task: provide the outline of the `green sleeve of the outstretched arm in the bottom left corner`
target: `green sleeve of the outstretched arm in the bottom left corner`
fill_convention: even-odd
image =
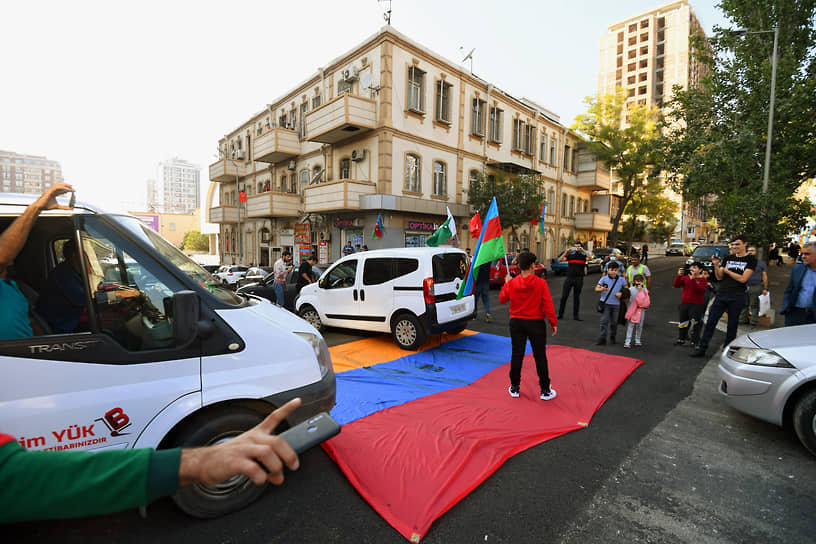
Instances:
[[[0,446],[0,523],[107,514],[178,486],[181,450],[27,451]]]

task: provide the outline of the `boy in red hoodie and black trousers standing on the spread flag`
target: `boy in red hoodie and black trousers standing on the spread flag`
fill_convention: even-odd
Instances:
[[[523,251],[518,255],[521,274],[515,278],[508,275],[499,293],[499,302],[510,302],[510,396],[518,398],[521,385],[521,365],[527,340],[533,348],[533,358],[541,387],[541,400],[555,398],[555,389],[550,387],[550,373],[547,368],[547,324],[550,322],[552,335],[558,331],[558,320],[547,282],[535,275],[535,255]]]

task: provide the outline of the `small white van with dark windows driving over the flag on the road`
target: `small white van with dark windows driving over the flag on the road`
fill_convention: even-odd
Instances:
[[[347,255],[303,287],[298,314],[324,325],[390,332],[414,350],[428,334],[462,332],[474,317],[473,295],[456,299],[467,255],[452,247],[395,248]]]

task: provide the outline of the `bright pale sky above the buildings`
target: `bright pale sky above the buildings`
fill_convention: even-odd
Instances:
[[[397,31],[571,124],[607,26],[663,2],[394,0]],[[728,26],[692,2],[706,29]],[[62,164],[78,198],[143,205],[159,161],[202,167],[218,139],[384,25],[377,0],[3,2],[0,149]],[[469,64],[469,63],[468,63]]]

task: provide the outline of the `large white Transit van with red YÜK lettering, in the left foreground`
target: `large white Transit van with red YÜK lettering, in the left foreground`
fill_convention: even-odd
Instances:
[[[35,198],[0,197],[0,231]],[[69,240],[79,271],[55,285]],[[311,325],[235,294],[135,217],[88,205],[44,212],[11,272],[37,325],[31,338],[0,341],[0,429],[30,450],[213,444],[294,397],[303,406],[290,425],[334,406],[328,348]],[[52,298],[72,290],[80,303]],[[48,315],[55,304],[59,320]],[[215,517],[262,491],[236,477],[182,488],[175,501]]]

